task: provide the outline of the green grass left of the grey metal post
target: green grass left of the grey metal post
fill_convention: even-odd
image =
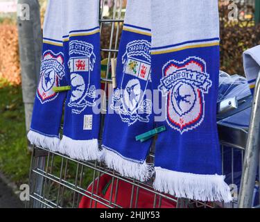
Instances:
[[[0,171],[17,185],[26,183],[30,158],[21,86],[0,80]]]

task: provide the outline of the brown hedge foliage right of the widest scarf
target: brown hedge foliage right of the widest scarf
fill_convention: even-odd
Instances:
[[[232,3],[232,1],[229,1]],[[243,51],[260,44],[260,24],[254,25],[254,8],[237,4],[239,17],[230,21],[230,10],[224,4],[220,6],[220,69],[228,74],[244,74]],[[244,16],[241,16],[244,15]]]

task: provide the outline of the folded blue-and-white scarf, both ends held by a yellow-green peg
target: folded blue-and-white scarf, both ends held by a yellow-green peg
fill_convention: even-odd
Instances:
[[[100,89],[99,53],[98,1],[49,1],[41,77],[28,134],[33,144],[75,159],[96,160],[100,114],[94,108],[96,89]]]

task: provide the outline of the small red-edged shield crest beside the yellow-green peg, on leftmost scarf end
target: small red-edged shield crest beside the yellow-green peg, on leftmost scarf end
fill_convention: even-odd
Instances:
[[[53,87],[60,86],[60,80],[64,75],[63,53],[55,54],[51,50],[45,51],[42,55],[40,82],[37,87],[37,98],[42,104],[57,98],[58,93],[53,91]]]

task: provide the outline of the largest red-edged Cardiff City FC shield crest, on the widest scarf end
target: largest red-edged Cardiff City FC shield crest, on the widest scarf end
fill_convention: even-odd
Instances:
[[[200,126],[205,116],[204,95],[212,86],[205,60],[171,60],[164,65],[162,74],[159,90],[167,99],[168,125],[181,134]]]

